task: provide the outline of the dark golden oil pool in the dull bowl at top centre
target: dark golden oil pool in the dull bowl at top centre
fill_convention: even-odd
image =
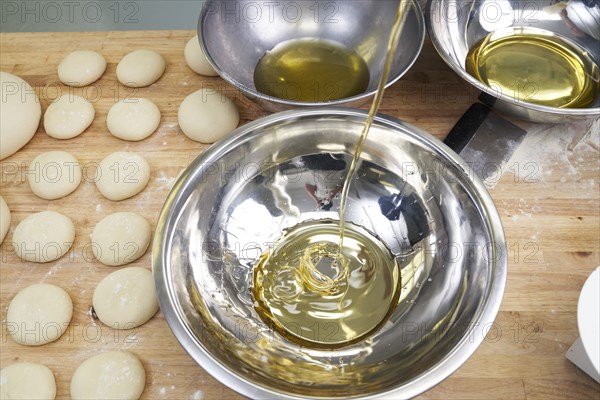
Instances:
[[[256,90],[291,101],[323,102],[364,93],[367,63],[353,50],[319,39],[296,39],[275,46],[254,70]]]

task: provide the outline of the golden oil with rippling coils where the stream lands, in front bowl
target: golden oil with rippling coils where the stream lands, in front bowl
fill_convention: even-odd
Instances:
[[[254,269],[253,297],[263,321],[291,341],[333,349],[386,321],[400,295],[400,269],[370,232],[347,224],[338,251],[334,220],[288,229]]]

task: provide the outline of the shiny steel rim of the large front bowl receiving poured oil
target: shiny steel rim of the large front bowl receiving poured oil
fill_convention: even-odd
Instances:
[[[223,149],[228,148],[235,142],[243,139],[245,135],[256,131],[261,127],[265,127],[280,121],[289,121],[295,118],[309,116],[366,118],[366,114],[367,113],[363,110],[349,108],[305,108],[300,110],[280,112],[250,122],[236,129],[231,134],[213,144],[202,154],[200,154],[175,182],[173,189],[169,193],[165,205],[160,212],[153,240],[152,268],[160,307],[165,319],[177,340],[199,365],[201,365],[209,374],[211,374],[221,383],[244,396],[248,396],[250,398],[264,398],[265,396],[273,396],[289,400],[305,398],[302,396],[279,393],[259,386],[223,366],[210,353],[208,353],[208,351],[206,351],[206,349],[202,346],[202,342],[191,334],[191,332],[185,326],[185,323],[183,323],[180,315],[178,315],[175,304],[173,303],[173,293],[168,285],[166,259],[169,254],[168,228],[172,223],[173,217],[177,215],[177,206],[181,207],[182,204],[182,197],[180,196],[181,187],[185,186],[188,177],[195,170],[197,170],[198,166],[217,160]],[[447,157],[460,169],[464,170],[465,173],[467,173],[469,170],[468,165],[455,152],[453,152],[441,141],[420,130],[419,128],[384,115],[378,115],[376,117],[376,123],[381,123],[392,129],[395,128],[397,130],[406,132],[417,140],[427,144],[439,154]],[[483,210],[481,210],[482,215],[487,219],[489,224],[490,238],[493,240],[493,243],[495,243],[497,246],[496,248],[498,249],[498,259],[496,263],[497,268],[494,268],[493,276],[491,276],[491,282],[493,282],[493,284],[487,292],[487,298],[479,305],[479,319],[465,331],[464,336],[456,344],[454,349],[449,352],[440,363],[429,368],[411,382],[388,390],[387,392],[376,393],[368,396],[361,396],[358,394],[357,396],[361,396],[361,398],[365,399],[398,399],[399,396],[402,398],[410,398],[423,393],[456,371],[475,352],[477,347],[481,344],[481,342],[483,342],[487,331],[489,331],[491,328],[499,311],[506,284],[506,240],[504,237],[500,216],[491,196],[485,189],[485,186],[476,177],[472,179],[472,184],[475,188],[475,194],[478,196],[483,207]]]

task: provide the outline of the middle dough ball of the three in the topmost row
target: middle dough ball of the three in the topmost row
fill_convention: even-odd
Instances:
[[[152,50],[135,50],[117,65],[117,79],[125,86],[150,86],[165,72],[165,60]]]

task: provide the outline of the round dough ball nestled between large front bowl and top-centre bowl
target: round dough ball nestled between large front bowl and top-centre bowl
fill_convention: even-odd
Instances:
[[[212,89],[200,89],[179,106],[179,126],[192,140],[213,143],[233,131],[240,114],[227,96]]]

